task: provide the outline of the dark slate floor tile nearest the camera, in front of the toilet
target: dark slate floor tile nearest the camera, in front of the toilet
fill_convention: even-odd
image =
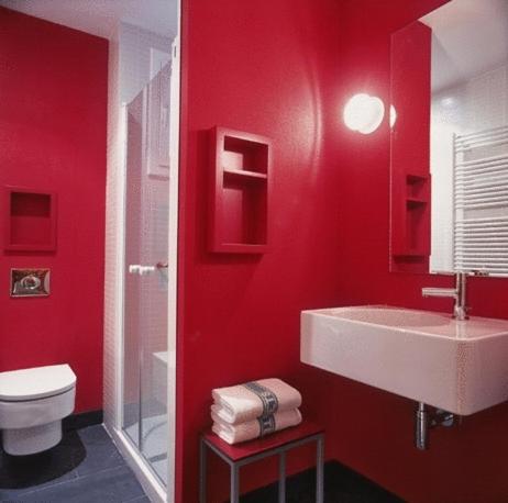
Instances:
[[[117,467],[23,495],[23,503],[121,503],[143,496],[132,471]],[[14,500],[15,501],[15,500]]]

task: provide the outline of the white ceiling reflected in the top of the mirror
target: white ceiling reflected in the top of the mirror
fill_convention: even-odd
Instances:
[[[508,62],[508,0],[453,0],[420,20],[432,29],[432,90]]]

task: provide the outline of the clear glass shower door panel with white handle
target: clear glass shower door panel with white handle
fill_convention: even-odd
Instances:
[[[123,429],[167,484],[169,80],[126,105]]]

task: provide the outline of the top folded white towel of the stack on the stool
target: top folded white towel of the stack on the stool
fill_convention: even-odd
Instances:
[[[245,423],[275,412],[298,409],[301,394],[280,379],[259,381],[212,390],[214,413],[230,424]],[[219,405],[219,407],[216,407]]]

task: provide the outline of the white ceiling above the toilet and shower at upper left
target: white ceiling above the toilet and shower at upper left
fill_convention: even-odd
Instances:
[[[0,5],[104,38],[119,22],[163,36],[177,33],[177,0],[0,0]]]

